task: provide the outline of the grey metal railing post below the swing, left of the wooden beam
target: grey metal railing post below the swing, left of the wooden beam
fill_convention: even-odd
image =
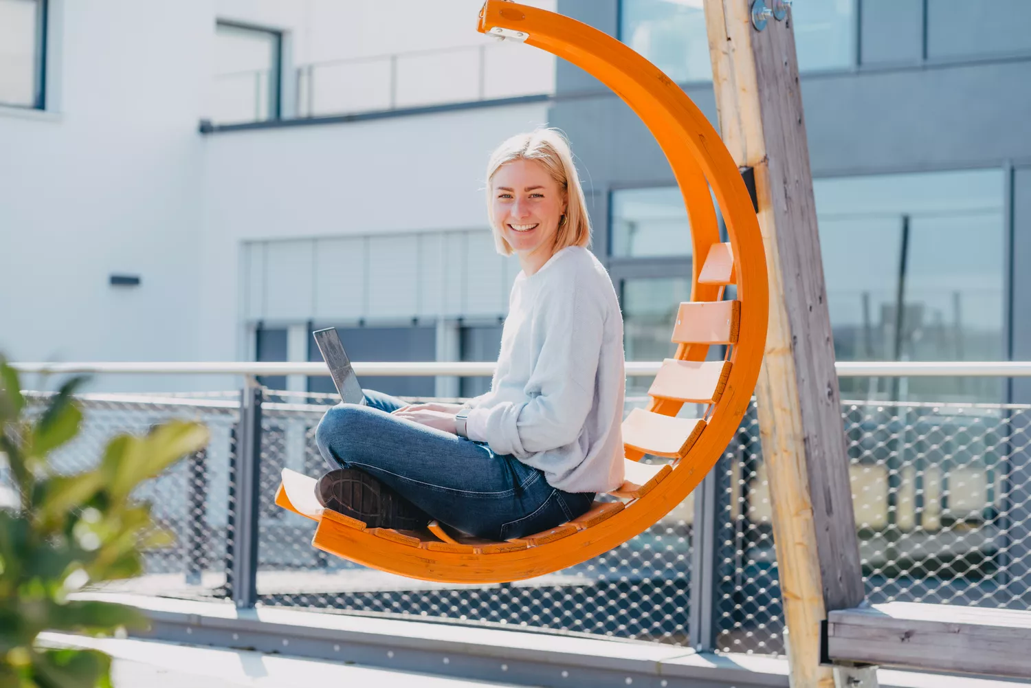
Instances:
[[[691,529],[691,614],[688,633],[691,647],[697,652],[712,652],[713,607],[716,596],[716,522],[718,471],[723,461],[702,480],[695,490],[695,523]]]

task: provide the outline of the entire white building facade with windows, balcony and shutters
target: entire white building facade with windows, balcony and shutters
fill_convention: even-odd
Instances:
[[[546,125],[555,66],[479,5],[0,0],[0,351],[309,360],[332,325],[356,360],[492,359],[519,268],[484,170]]]

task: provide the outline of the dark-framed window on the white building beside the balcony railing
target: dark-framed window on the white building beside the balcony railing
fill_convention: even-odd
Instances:
[[[211,119],[219,124],[279,119],[282,34],[215,25]]]

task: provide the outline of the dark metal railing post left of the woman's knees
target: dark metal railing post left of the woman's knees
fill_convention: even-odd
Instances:
[[[230,595],[237,608],[258,601],[258,471],[261,467],[262,388],[247,385],[240,397],[234,470],[230,474],[233,560]]]

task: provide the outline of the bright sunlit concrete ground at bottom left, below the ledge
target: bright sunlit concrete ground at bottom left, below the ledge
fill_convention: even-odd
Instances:
[[[114,659],[115,688],[296,688],[296,686],[375,686],[376,688],[472,688],[510,686],[390,671],[356,664],[300,659],[246,650],[197,648],[173,643],[91,638],[43,633],[48,645],[95,648]]]

